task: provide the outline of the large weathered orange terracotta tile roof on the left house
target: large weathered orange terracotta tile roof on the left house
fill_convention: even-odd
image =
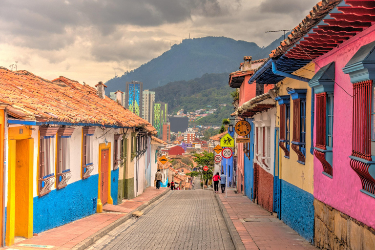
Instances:
[[[96,88],[62,76],[49,81],[25,70],[0,67],[0,102],[10,104],[7,112],[21,120],[143,127],[156,133],[146,120],[109,97],[97,96]]]

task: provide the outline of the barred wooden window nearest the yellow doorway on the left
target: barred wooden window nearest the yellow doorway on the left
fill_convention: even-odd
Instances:
[[[56,181],[56,133],[58,129],[59,127],[39,128],[39,197],[49,193]]]

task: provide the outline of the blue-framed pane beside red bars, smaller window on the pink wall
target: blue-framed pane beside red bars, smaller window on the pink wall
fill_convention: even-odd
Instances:
[[[333,93],[327,94],[326,108],[326,147],[331,152],[326,153],[326,161],[332,166],[332,148],[333,148]]]

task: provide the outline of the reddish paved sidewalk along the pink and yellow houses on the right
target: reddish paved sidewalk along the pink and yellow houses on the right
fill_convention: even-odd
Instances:
[[[229,226],[228,224],[227,226],[229,232],[232,228],[230,234],[236,249],[316,250],[310,242],[302,238],[296,231],[273,217],[270,212],[254,204],[246,196],[237,194],[230,189],[227,193],[227,199],[225,194],[222,193],[215,194],[215,196],[221,209],[225,209],[223,212],[224,219],[229,217],[232,222],[232,224],[229,222]],[[230,224],[232,227],[230,227]]]

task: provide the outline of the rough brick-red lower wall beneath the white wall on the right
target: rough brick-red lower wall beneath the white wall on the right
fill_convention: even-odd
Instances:
[[[269,212],[273,208],[273,176],[256,164],[258,204]]]

